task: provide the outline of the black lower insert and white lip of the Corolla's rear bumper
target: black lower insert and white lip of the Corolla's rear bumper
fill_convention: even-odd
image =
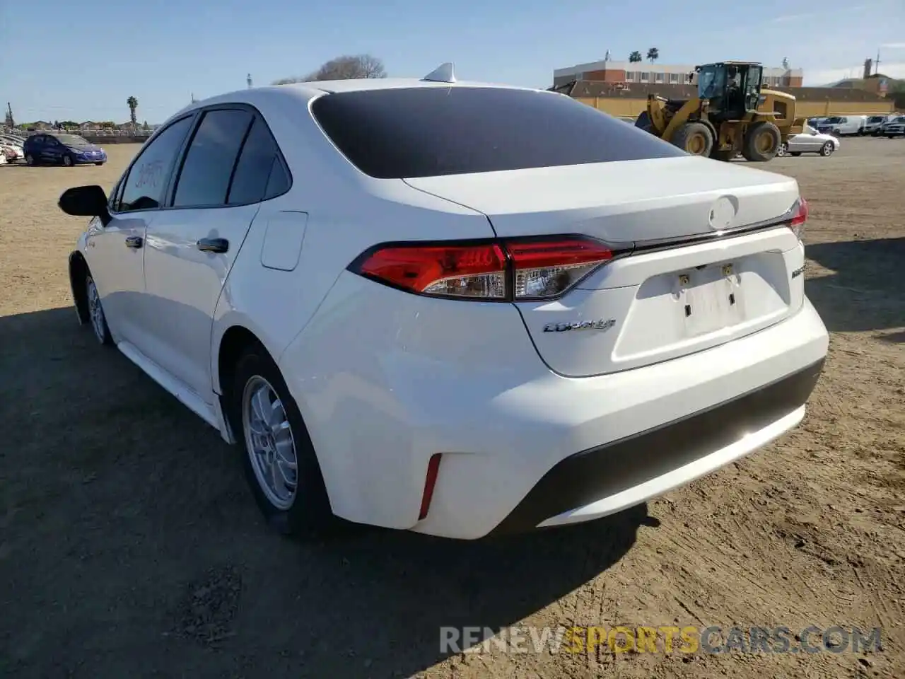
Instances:
[[[821,359],[719,406],[571,455],[492,532],[599,518],[729,464],[798,424],[823,367]]]

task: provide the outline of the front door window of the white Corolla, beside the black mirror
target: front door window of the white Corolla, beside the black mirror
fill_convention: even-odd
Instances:
[[[153,210],[161,206],[167,190],[167,177],[191,124],[192,116],[176,120],[141,149],[129,169],[129,176],[123,179],[119,211]]]

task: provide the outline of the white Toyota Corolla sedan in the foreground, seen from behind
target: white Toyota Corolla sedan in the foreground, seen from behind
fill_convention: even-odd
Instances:
[[[198,101],[60,206],[79,320],[291,533],[618,512],[796,426],[827,351],[794,179],[450,64]]]

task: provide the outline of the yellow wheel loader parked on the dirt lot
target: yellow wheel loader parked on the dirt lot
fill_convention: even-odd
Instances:
[[[761,89],[759,63],[707,63],[695,73],[697,97],[668,100],[651,94],[635,127],[695,156],[731,160],[740,153],[759,162],[774,158],[791,134],[804,129],[805,119],[795,119],[795,97]]]

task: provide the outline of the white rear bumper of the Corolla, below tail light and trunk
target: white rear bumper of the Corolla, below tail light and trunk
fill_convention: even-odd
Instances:
[[[805,299],[718,347],[566,378],[538,359],[512,305],[405,295],[348,273],[278,363],[338,516],[472,540],[617,512],[756,450],[804,415],[827,344]]]

